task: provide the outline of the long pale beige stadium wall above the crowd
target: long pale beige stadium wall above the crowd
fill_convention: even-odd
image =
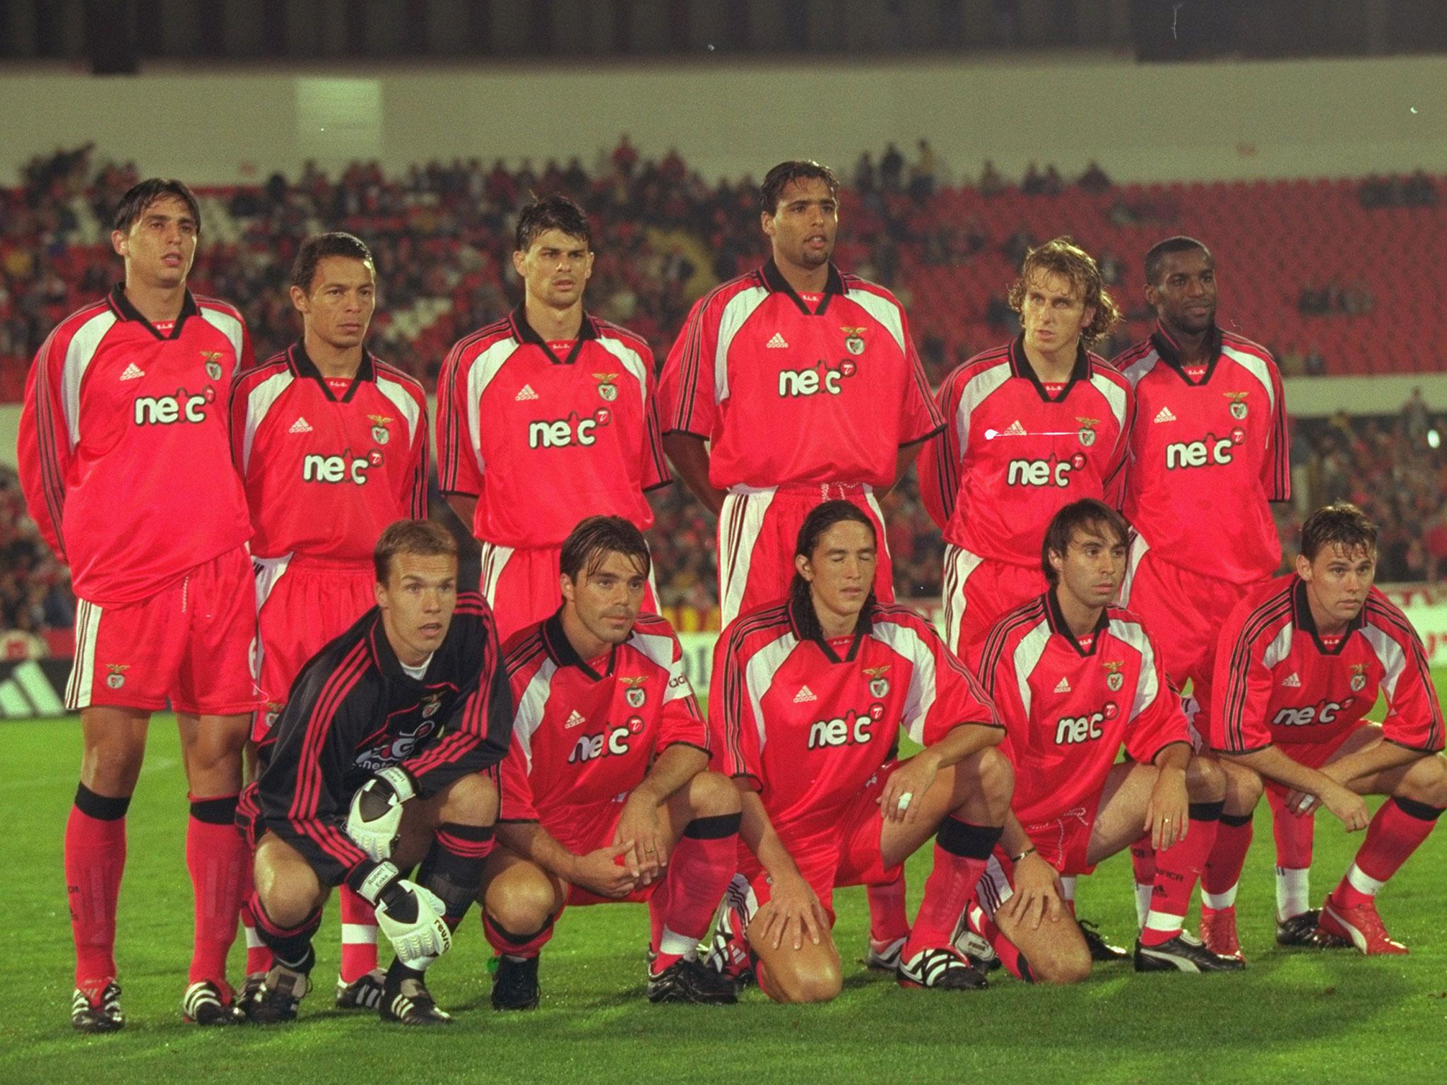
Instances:
[[[391,169],[478,156],[593,155],[629,133],[705,176],[755,176],[809,155],[851,168],[888,140],[933,145],[971,176],[985,158],[1120,181],[1351,176],[1447,169],[1447,58],[1134,64],[1117,56],[696,62],[647,67],[262,69],[152,67],[94,78],[0,74],[0,175],[38,150],[96,142],[145,174],[258,181],[307,159]],[[945,178],[951,179],[951,178]]]

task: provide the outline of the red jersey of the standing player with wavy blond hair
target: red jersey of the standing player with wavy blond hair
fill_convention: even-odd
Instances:
[[[1039,566],[1062,506],[1097,498],[1119,508],[1133,411],[1130,385],[1085,347],[1053,395],[1023,337],[977,354],[939,388],[945,430],[919,461],[925,508],[948,542]]]

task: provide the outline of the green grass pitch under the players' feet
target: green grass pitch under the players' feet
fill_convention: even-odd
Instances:
[[[1257,817],[1239,911],[1242,975],[1137,977],[1097,971],[1068,990],[1003,978],[972,994],[904,991],[857,963],[868,917],[862,890],[838,894],[845,991],[822,1007],[773,1005],[750,990],[738,1007],[655,1007],[642,997],[641,906],[573,909],[543,958],[543,1008],[495,1014],[486,955],[469,917],[431,974],[454,1010],[446,1033],[385,1029],[330,1008],[337,927],[317,939],[318,990],[302,1020],[272,1030],[182,1024],[191,890],[182,855],[185,781],[174,728],[158,718],[135,803],[120,901],[119,963],[127,1024],[113,1036],[69,1029],[72,952],[61,830],[75,791],[74,720],[6,723],[20,767],[3,806],[6,855],[0,965],[3,1082],[739,1082],[1068,1081],[1331,1082],[1433,1079],[1447,1026],[1447,932],[1440,922],[1447,839],[1434,835],[1382,894],[1409,958],[1286,952],[1272,940],[1270,826]],[[1336,884],[1360,836],[1318,819],[1314,895]],[[910,864],[917,903],[928,851]],[[1134,923],[1130,865],[1117,856],[1081,881],[1081,913],[1117,940]],[[232,974],[240,974],[240,946]],[[997,974],[1000,975],[1000,974]],[[1433,1055],[1437,1052],[1437,1055]]]

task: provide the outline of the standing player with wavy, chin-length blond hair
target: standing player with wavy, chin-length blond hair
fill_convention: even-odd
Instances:
[[[1081,498],[1119,503],[1134,396],[1090,353],[1120,320],[1095,260],[1068,237],[1032,249],[1010,286],[1020,336],[939,388],[945,430],[919,467],[945,532],[945,639],[961,657],[1045,590],[1040,537]]]

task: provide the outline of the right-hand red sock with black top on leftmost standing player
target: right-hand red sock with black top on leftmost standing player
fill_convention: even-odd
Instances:
[[[195,940],[188,982],[210,979],[226,990],[226,955],[236,940],[242,891],[252,852],[236,827],[239,796],[192,799],[185,865],[195,895]]]

